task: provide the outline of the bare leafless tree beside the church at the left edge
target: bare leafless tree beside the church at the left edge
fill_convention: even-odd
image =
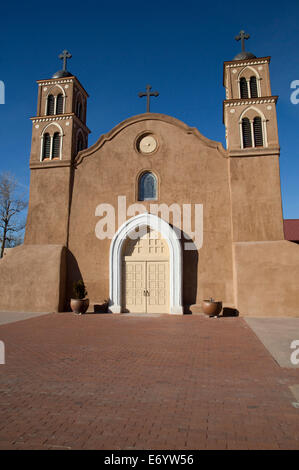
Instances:
[[[28,203],[18,194],[18,182],[10,173],[0,175],[0,258],[5,246],[15,246],[20,242],[18,233],[24,229],[25,222],[20,220],[20,213]]]

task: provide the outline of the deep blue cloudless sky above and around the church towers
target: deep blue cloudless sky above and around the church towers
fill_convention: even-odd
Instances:
[[[90,95],[89,145],[120,121],[145,112],[146,100],[137,95],[147,83],[160,93],[151,111],[175,116],[225,145],[223,61],[239,52],[234,37],[245,29],[251,34],[246,49],[272,57],[284,218],[299,218],[299,104],[290,101],[290,83],[299,80],[299,2],[248,5],[240,0],[2,4],[0,80],[6,104],[0,105],[0,171],[11,171],[29,188],[35,81],[61,68],[57,56],[63,49],[72,53],[68,68]]]

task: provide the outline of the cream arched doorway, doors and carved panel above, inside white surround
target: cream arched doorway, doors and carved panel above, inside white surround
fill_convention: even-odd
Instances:
[[[169,312],[169,248],[159,232],[142,227],[122,252],[122,311]]]

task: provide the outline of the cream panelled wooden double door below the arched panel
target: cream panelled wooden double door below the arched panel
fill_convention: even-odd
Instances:
[[[169,312],[168,261],[124,261],[124,311]]]

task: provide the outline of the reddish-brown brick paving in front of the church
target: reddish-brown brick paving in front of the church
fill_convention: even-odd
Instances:
[[[49,314],[0,340],[1,449],[299,449],[299,371],[242,318]]]

